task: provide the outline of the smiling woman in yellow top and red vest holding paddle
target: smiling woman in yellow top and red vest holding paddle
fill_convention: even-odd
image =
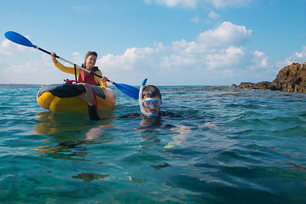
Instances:
[[[77,76],[77,80],[79,82],[85,82],[89,83],[91,85],[102,85],[103,87],[107,87],[106,80],[107,77],[103,76],[103,78],[99,78],[91,73],[88,73],[78,67],[75,68],[74,73],[74,67],[73,66],[64,66],[62,65],[57,59],[55,58],[56,53],[51,52],[51,59],[53,60],[54,65],[61,71],[66,73],[75,74]],[[97,66],[94,66],[96,61],[97,53],[95,51],[88,51],[85,55],[84,63],[81,65],[81,67],[86,68],[100,76],[102,76],[102,72],[100,69],[98,69]]]

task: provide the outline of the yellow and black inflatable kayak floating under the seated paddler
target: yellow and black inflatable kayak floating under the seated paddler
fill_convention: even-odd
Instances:
[[[97,110],[109,110],[116,103],[116,94],[110,88],[90,85],[96,94]],[[87,103],[78,95],[84,94],[82,85],[49,84],[42,86],[36,95],[40,107],[54,113],[84,113],[88,112]]]

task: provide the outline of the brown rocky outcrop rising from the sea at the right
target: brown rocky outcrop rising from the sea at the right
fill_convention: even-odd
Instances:
[[[234,88],[281,90],[288,92],[306,92],[306,62],[292,63],[278,71],[272,81],[258,83],[241,82],[239,85],[232,84]]]

